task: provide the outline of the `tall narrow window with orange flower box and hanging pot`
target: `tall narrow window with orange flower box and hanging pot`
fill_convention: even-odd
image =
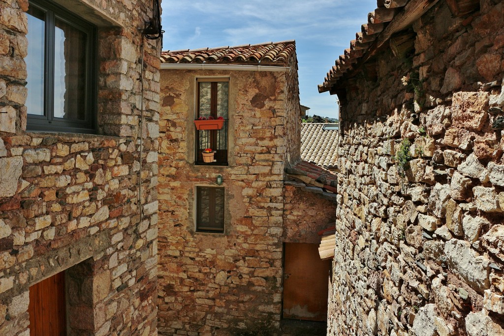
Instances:
[[[196,126],[196,163],[227,165],[227,138],[229,121],[229,79],[198,79],[196,119],[207,119]],[[209,120],[210,119],[210,120]],[[219,120],[213,122],[212,120]],[[210,148],[213,159],[203,159],[202,152]]]

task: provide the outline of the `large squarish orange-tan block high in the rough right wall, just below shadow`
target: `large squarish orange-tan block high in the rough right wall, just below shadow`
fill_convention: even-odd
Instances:
[[[454,127],[481,130],[488,118],[488,92],[456,92],[452,100]]]

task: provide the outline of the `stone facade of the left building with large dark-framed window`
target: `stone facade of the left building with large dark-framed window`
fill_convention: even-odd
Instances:
[[[96,36],[86,63],[94,134],[27,131],[32,4],[0,1],[0,334],[30,334],[29,288],[62,271],[67,334],[157,334],[160,41],[140,32],[152,1],[37,3],[64,6]]]

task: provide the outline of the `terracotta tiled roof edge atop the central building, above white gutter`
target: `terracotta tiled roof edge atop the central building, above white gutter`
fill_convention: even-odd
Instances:
[[[295,52],[296,42],[266,42],[234,47],[168,50],[161,52],[161,63],[285,64]]]

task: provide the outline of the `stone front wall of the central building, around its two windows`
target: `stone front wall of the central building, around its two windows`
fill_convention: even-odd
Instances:
[[[196,78],[204,76],[229,78],[229,166],[194,164]],[[160,333],[278,329],[286,124],[299,118],[299,101],[286,101],[286,89],[296,83],[297,71],[162,71]],[[196,186],[215,185],[218,174],[225,232],[195,232]]]

